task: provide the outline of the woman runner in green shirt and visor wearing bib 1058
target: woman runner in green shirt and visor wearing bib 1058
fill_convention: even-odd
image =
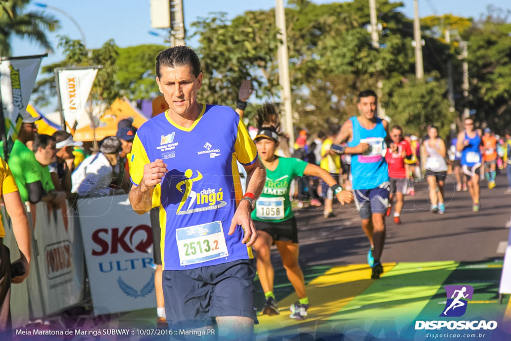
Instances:
[[[275,155],[280,120],[272,104],[265,104],[258,110],[258,127],[259,132],[254,142],[266,167],[266,184],[252,212],[252,220],[259,235],[253,248],[257,252],[257,271],[266,297],[263,314],[279,314],[273,294],[274,273],[270,262],[270,248],[275,244],[281,254],[287,277],[299,298],[291,305],[290,317],[303,320],[307,316],[309,299],[305,292],[304,274],[298,264],[298,231],[289,199],[291,180],[296,176],[318,176],[332,188],[341,204],[351,202],[353,195],[343,190],[337,181],[319,166],[298,158]]]

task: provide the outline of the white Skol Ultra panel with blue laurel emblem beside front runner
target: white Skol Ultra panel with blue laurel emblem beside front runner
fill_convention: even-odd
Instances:
[[[156,308],[149,213],[125,194],[80,199],[78,215],[95,314]]]

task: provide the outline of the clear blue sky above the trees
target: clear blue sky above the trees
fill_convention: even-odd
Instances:
[[[396,1],[396,0],[391,0]],[[286,0],[285,0],[286,2]],[[315,3],[332,3],[329,0],[314,0]],[[377,0],[378,2],[378,0]],[[413,0],[401,0],[402,11],[413,17]],[[151,29],[149,0],[33,0],[28,6],[31,10],[43,10],[34,5],[43,3],[57,7],[71,15],[81,26],[87,48],[99,48],[106,40],[114,39],[120,47],[138,44],[164,44],[164,40],[148,33]],[[510,0],[419,0],[420,16],[442,15],[451,13],[459,16],[479,18],[486,12],[488,5],[506,10],[511,9]],[[211,12],[227,12],[233,18],[248,10],[270,9],[275,6],[274,0],[238,1],[238,0],[183,0],[184,20],[187,29],[198,17],[207,16]],[[57,49],[58,35],[67,35],[80,39],[79,30],[73,22],[59,12],[44,9],[60,20],[61,28],[49,33],[49,39],[55,52],[42,60],[42,65],[62,60],[62,51]],[[188,30],[190,33],[191,31]],[[189,42],[193,47],[193,41]],[[35,55],[44,53],[44,49],[21,39],[12,41],[13,55]]]

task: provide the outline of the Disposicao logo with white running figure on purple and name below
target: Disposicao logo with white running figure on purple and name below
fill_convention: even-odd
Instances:
[[[447,301],[439,317],[459,317],[467,312],[468,300],[472,300],[474,288],[470,285],[446,285]],[[449,330],[493,330],[497,328],[496,321],[415,321],[415,330],[441,329]]]

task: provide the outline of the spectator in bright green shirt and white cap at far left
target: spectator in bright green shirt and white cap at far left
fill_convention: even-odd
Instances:
[[[26,144],[29,141],[34,141],[37,132],[34,122],[39,119],[40,117],[30,117],[23,120],[8,158],[8,165],[18,186],[21,200],[32,203],[36,203],[41,199],[39,191],[41,175],[35,155]],[[4,160],[6,159],[3,142],[0,142],[0,156]]]

